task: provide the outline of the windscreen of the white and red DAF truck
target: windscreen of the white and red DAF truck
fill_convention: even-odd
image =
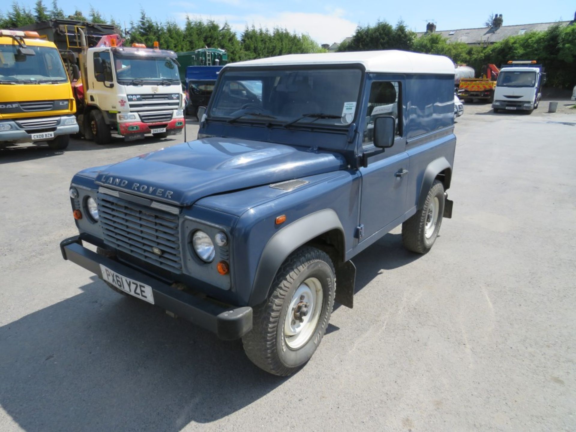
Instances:
[[[176,63],[169,57],[154,57],[134,55],[123,56],[114,53],[116,79],[120,84],[132,81],[146,81],[148,84],[179,84],[180,75]]]

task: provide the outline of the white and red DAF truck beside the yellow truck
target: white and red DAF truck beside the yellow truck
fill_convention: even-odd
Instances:
[[[112,134],[126,141],[145,134],[166,138],[184,128],[184,93],[174,51],[122,46],[107,35],[88,48],[82,29],[81,81],[74,86],[80,132],[97,144]]]

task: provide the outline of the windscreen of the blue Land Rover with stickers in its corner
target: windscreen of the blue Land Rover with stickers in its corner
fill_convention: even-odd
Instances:
[[[209,118],[298,126],[354,120],[359,69],[224,70]]]

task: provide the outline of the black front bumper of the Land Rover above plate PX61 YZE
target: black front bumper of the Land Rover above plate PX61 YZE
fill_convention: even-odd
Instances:
[[[248,306],[224,308],[209,300],[179,291],[138,270],[90,251],[82,245],[80,236],[66,238],[60,242],[60,249],[65,260],[86,268],[99,278],[102,278],[100,264],[103,264],[120,275],[150,285],[154,294],[154,305],[214,332],[220,339],[239,339],[252,329],[252,308]]]

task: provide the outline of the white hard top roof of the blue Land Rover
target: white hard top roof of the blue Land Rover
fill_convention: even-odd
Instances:
[[[363,65],[367,72],[454,75],[454,63],[448,57],[397,50],[289,54],[228,63],[224,67],[351,65],[354,63]]]

